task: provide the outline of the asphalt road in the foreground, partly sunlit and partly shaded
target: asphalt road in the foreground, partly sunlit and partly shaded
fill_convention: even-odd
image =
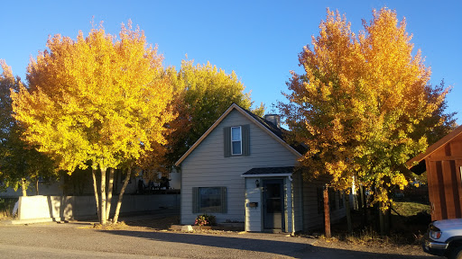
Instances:
[[[192,234],[143,228],[97,230],[87,223],[0,225],[0,258],[438,258],[312,246],[279,234]]]

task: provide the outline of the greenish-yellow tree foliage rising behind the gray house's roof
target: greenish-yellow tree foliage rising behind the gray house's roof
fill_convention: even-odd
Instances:
[[[180,71],[169,67],[165,71],[176,90],[175,111],[178,118],[171,123],[175,132],[170,136],[170,152],[167,164],[173,165],[204,132],[232,104],[251,109],[250,93],[232,71],[207,64],[193,64],[193,60],[182,60]],[[252,112],[263,116],[263,103]]]

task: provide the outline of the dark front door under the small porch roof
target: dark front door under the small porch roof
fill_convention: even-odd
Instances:
[[[282,179],[263,180],[263,228],[283,228],[283,193]]]

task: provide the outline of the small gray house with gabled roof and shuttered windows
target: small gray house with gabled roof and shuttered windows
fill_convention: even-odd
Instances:
[[[302,151],[283,140],[278,116],[266,119],[232,104],[180,157],[181,224],[207,213],[245,222],[245,231],[322,226],[322,183],[302,181],[294,171]],[[330,201],[335,222],[345,216],[344,197],[330,192]]]

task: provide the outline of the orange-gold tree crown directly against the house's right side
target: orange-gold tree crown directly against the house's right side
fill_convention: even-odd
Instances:
[[[347,189],[357,168],[354,147],[361,139],[362,121],[355,114],[365,109],[355,78],[362,57],[355,55],[358,42],[345,17],[328,11],[319,29],[313,50],[306,46],[299,55],[305,74],[291,72],[292,92],[286,94],[291,103],[280,105],[295,140],[310,147],[300,160],[310,170],[306,176],[329,175],[332,186]]]

